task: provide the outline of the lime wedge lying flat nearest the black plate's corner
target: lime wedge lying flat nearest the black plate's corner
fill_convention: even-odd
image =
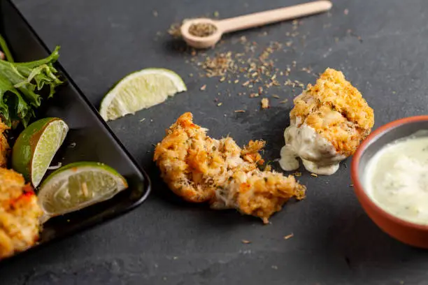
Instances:
[[[108,200],[127,187],[124,177],[110,166],[85,161],[68,164],[49,175],[37,196],[46,220]]]

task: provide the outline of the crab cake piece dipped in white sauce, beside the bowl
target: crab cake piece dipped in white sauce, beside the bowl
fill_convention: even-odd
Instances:
[[[331,175],[354,154],[371,132],[373,109],[340,71],[327,68],[315,85],[294,98],[285,130],[281,167],[296,170],[300,157],[307,170]]]

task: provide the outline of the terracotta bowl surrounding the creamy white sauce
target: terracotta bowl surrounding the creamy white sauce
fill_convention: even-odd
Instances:
[[[381,209],[364,189],[364,170],[369,159],[387,143],[411,136],[416,131],[428,130],[428,115],[399,119],[381,126],[362,142],[352,159],[351,177],[354,190],[369,217],[385,233],[414,247],[428,249],[428,225],[414,224]]]

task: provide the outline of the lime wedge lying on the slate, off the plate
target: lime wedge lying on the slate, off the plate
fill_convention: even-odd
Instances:
[[[117,119],[162,103],[168,96],[186,90],[177,73],[164,68],[146,68],[120,80],[104,96],[99,113],[106,121]]]

